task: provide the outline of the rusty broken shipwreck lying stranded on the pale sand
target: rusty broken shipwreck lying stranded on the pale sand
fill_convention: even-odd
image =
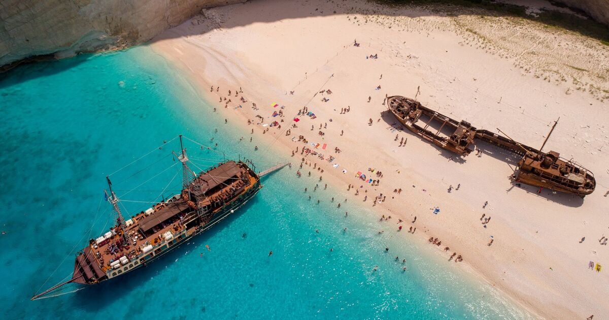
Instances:
[[[541,148],[537,150],[518,143],[512,138],[506,138],[484,129],[477,130],[466,121],[448,118],[448,116],[423,107],[414,99],[390,96],[387,98],[387,106],[407,129],[424,140],[458,155],[470,154],[475,148],[474,139],[486,141],[521,155],[523,158],[519,160],[513,175],[515,182],[576,194],[581,197],[591,194],[596,187],[594,174],[588,169],[572,160],[561,158],[558,152],[542,151],[558,121],[554,123]],[[436,121],[435,125],[438,127],[436,132],[430,130],[432,121]],[[446,127],[448,130],[445,129]],[[443,129],[446,133],[442,132]],[[501,132],[501,130],[499,131]]]

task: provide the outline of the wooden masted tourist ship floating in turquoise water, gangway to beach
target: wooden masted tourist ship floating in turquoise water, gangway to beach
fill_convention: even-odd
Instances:
[[[287,165],[256,174],[250,161],[227,161],[195,174],[189,167],[181,135],[180,146],[181,153],[174,155],[182,164],[181,193],[124,219],[107,177],[105,195],[116,224],[79,252],[71,279],[35,294],[32,300],[63,294],[57,292],[69,283],[93,285],[146,266],[234,213],[262,188],[261,176]]]

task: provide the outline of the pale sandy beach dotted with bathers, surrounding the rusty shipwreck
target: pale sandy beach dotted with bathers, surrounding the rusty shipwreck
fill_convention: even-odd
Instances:
[[[327,143],[322,152],[336,157],[338,169],[314,156],[307,161],[321,164],[324,180],[341,188],[364,185],[350,201],[363,201],[363,190],[368,190],[368,201],[362,205],[373,205],[378,193],[387,195],[375,208],[379,217],[390,214],[393,219],[379,222],[379,228],[396,228],[400,216],[407,231],[417,216],[417,232],[403,231],[404,237],[421,243],[438,237],[442,246],[429,249],[446,260],[452,252],[462,254],[464,268],[471,267],[537,315],[609,318],[608,273],[588,269],[588,261],[609,265],[608,248],[599,244],[601,236],[609,236],[609,199],[603,196],[609,183],[609,111],[602,91],[608,88],[606,47],[519,18],[465,13],[448,17],[437,10],[357,1],[261,0],[208,10],[205,16],[167,30],[151,46],[194,76],[202,93],[231,123],[253,127],[252,144],[261,152],[272,148],[289,156],[290,149],[304,146],[290,140],[298,135]],[[353,46],[354,39],[361,43],[359,48]],[[378,59],[366,59],[375,53]],[[220,91],[210,93],[210,85],[219,85]],[[378,85],[381,90],[375,90]],[[560,116],[546,150],[591,169],[597,190],[585,200],[547,191],[538,195],[533,187],[510,183],[518,159],[505,151],[479,143],[482,157],[471,154],[454,161],[415,135],[397,132],[390,127],[395,119],[383,113],[383,98],[414,98],[418,86],[424,105],[477,127],[500,127],[531,146],[541,146],[549,124]],[[239,87],[245,104],[239,102],[241,94],[234,96]],[[333,94],[319,93],[328,88]],[[219,96],[228,98],[228,90],[233,91],[232,102],[224,108]],[[288,93],[292,90],[293,95]],[[330,101],[322,102],[323,97]],[[253,110],[251,102],[259,110]],[[286,106],[285,122],[262,135],[255,115],[269,123],[277,110],[272,102]],[[239,104],[243,108],[235,109]],[[290,120],[305,105],[318,118],[300,116],[298,128],[286,136]],[[347,106],[351,111],[340,114]],[[372,126],[367,125],[369,118],[374,119]],[[247,119],[254,124],[248,127]],[[327,129],[319,129],[324,123]],[[323,138],[317,134],[320,130]],[[407,138],[406,147],[398,147],[396,134]],[[335,154],[335,147],[342,152]],[[300,157],[293,163],[300,163]],[[303,172],[312,169],[305,166]],[[383,172],[379,187],[354,177],[369,167]],[[312,178],[302,179],[314,185],[319,176],[314,171]],[[446,192],[458,183],[460,190]],[[392,192],[395,188],[404,191],[398,196]],[[482,208],[485,201],[488,206]],[[430,210],[436,206],[439,215]],[[480,221],[483,213],[491,216],[486,229]],[[491,235],[495,241],[487,246]],[[579,243],[583,236],[586,240]],[[445,246],[449,252],[442,251]]]

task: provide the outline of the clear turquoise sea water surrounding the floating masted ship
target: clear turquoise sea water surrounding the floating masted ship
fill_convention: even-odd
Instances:
[[[66,256],[45,288],[71,273],[74,245],[80,249],[107,227],[104,177],[163,140],[183,133],[218,143],[213,152],[187,142],[201,167],[222,153],[256,159],[259,169],[281,160],[254,152],[247,132],[209,112],[172,70],[143,46],[28,65],[0,78],[2,318],[530,318],[454,263],[410,243],[393,222],[350,203],[336,208],[330,199],[343,199],[342,191],[318,190],[309,202],[303,188],[311,190],[314,178],[295,179],[287,168],[265,178],[236,215],[148,268],[30,301]],[[112,176],[125,212],[148,207],[129,201],[178,191],[179,165],[161,172],[174,163],[175,142]],[[406,272],[396,255],[406,258]]]

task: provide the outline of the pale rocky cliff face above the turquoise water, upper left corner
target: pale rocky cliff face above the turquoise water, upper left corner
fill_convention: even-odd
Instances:
[[[246,0],[0,0],[0,66],[150,40],[200,10]]]

